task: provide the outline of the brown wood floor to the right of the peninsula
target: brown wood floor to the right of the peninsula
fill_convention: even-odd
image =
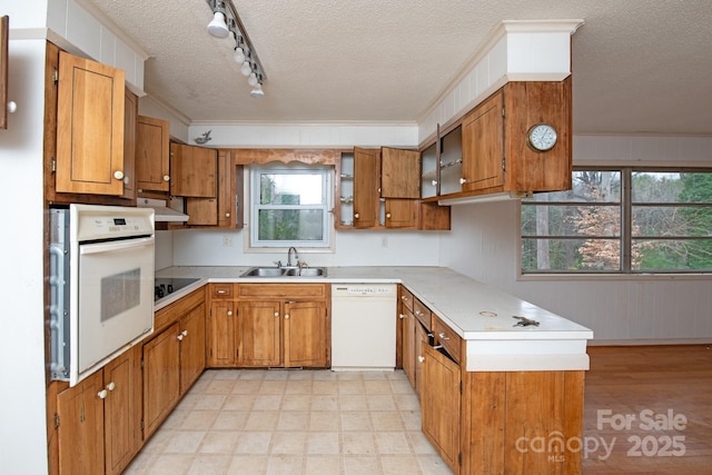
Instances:
[[[712,347],[589,347],[584,474],[712,474]]]

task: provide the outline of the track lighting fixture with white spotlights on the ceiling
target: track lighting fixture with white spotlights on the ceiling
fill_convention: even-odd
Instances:
[[[250,96],[265,97],[263,82],[266,79],[263,65],[257,58],[255,47],[249,40],[245,27],[240,21],[231,0],[206,0],[212,10],[212,20],[208,24],[208,32],[215,38],[228,38],[233,46],[233,59],[240,65],[240,73],[247,78],[251,87]]]

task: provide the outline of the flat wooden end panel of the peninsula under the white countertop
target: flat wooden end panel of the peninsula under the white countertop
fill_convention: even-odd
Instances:
[[[461,473],[581,473],[583,370],[462,375]]]

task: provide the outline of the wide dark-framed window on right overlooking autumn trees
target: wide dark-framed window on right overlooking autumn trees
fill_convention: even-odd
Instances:
[[[522,274],[712,271],[712,170],[578,168],[522,200]]]

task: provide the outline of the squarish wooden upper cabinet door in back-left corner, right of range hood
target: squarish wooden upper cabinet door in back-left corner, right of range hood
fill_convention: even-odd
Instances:
[[[182,197],[217,196],[217,150],[170,145],[170,194]]]

